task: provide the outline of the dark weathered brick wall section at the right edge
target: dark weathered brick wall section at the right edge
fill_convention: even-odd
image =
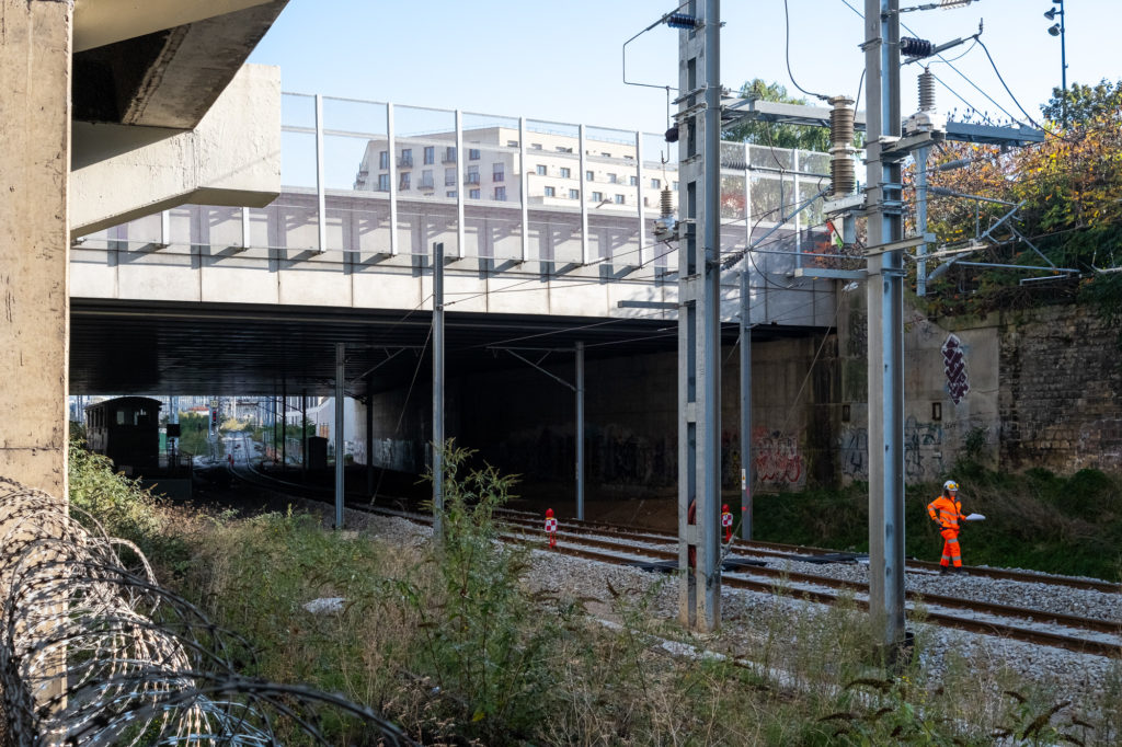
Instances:
[[[1003,320],[1000,460],[1070,474],[1122,472],[1118,330],[1064,306]]]

